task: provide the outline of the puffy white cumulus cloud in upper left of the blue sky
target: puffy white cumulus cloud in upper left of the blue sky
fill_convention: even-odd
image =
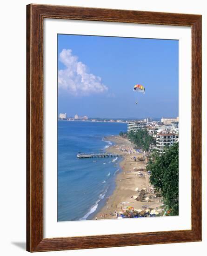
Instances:
[[[107,92],[101,78],[88,72],[87,66],[78,61],[71,49],[63,49],[59,60],[65,69],[58,70],[58,87],[73,95],[90,95]]]

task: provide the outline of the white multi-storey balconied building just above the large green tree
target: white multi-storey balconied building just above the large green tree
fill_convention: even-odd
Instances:
[[[175,133],[158,133],[156,135],[156,149],[159,151],[160,155],[164,152],[165,147],[172,146],[174,143],[178,142],[179,135]]]

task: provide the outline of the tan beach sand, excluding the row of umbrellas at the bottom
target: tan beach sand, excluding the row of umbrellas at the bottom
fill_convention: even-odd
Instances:
[[[154,190],[151,189],[149,175],[145,169],[146,162],[134,161],[133,159],[133,157],[143,158],[143,154],[134,151],[127,138],[110,136],[105,139],[115,143],[115,145],[107,148],[107,152],[126,153],[128,155],[125,155],[120,162],[121,172],[116,177],[116,187],[113,194],[107,197],[106,205],[94,216],[94,219],[117,218],[117,214],[123,213],[127,206],[133,207],[134,210],[160,209],[161,198],[156,197]],[[137,201],[135,198],[141,190],[145,190],[144,199]]]

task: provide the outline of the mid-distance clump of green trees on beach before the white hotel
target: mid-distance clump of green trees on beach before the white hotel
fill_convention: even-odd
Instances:
[[[144,151],[149,151],[150,146],[155,144],[154,138],[148,134],[147,129],[140,129],[135,133],[131,131],[127,137],[136,148],[141,148]]]

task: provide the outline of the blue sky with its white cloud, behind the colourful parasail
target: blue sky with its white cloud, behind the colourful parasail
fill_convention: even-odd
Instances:
[[[58,114],[178,116],[178,44],[178,40],[59,34]],[[135,84],[143,85],[146,93],[134,92]]]

